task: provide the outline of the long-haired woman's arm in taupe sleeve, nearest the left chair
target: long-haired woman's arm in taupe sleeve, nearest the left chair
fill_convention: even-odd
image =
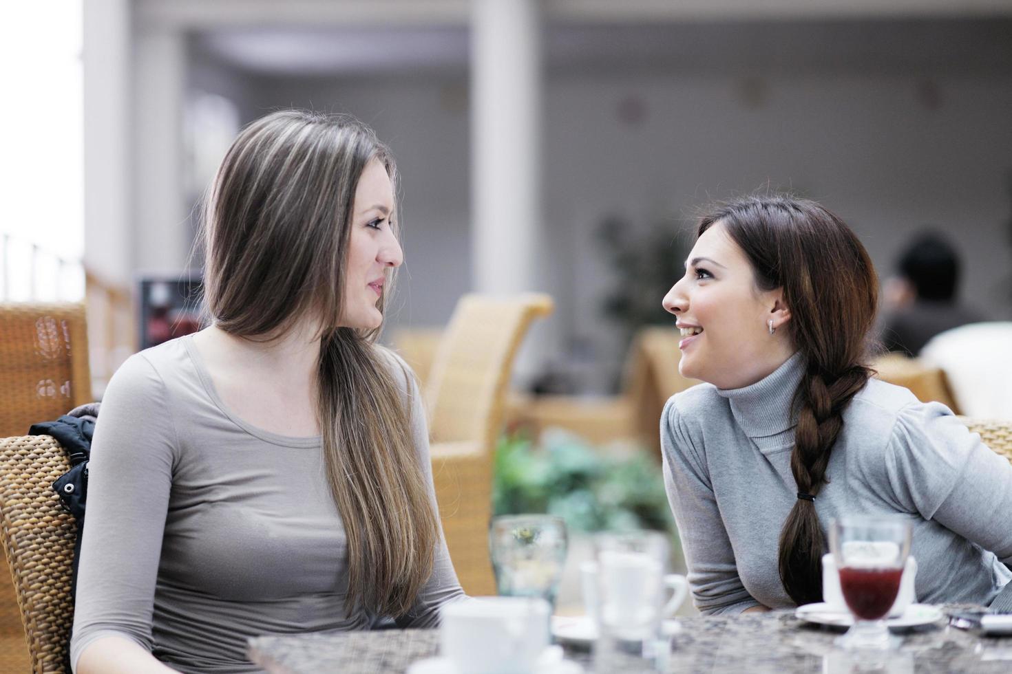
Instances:
[[[143,355],[130,358],[109,382],[91,446],[71,641],[75,671],[164,671],[150,652],[178,447],[171,414],[155,368]]]

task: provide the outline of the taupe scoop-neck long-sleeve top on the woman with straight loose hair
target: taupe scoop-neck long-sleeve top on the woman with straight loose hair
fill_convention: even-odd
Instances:
[[[435,507],[421,396],[395,359]],[[256,671],[249,637],[362,630],[374,618],[345,610],[346,539],[320,439],[233,414],[190,336],[133,356],[109,382],[88,492],[75,668],[88,644],[117,635],[184,672]],[[440,543],[431,578],[398,622],[433,625],[438,607],[462,596]]]

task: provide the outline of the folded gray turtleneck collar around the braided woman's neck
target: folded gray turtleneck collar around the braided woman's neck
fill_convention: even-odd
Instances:
[[[766,438],[791,428],[796,411],[791,408],[794,390],[805,374],[802,352],[755,384],[744,388],[716,389],[731,404],[735,421],[749,438]]]

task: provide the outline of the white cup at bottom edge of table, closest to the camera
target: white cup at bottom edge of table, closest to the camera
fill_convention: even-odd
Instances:
[[[529,674],[549,647],[552,608],[540,598],[475,597],[443,605],[439,648],[458,672]]]

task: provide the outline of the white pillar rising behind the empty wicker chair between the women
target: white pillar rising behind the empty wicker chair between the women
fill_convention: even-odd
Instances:
[[[540,9],[540,0],[472,3],[472,279],[478,292],[544,288]],[[543,339],[528,340],[518,377],[529,379],[547,351]]]

